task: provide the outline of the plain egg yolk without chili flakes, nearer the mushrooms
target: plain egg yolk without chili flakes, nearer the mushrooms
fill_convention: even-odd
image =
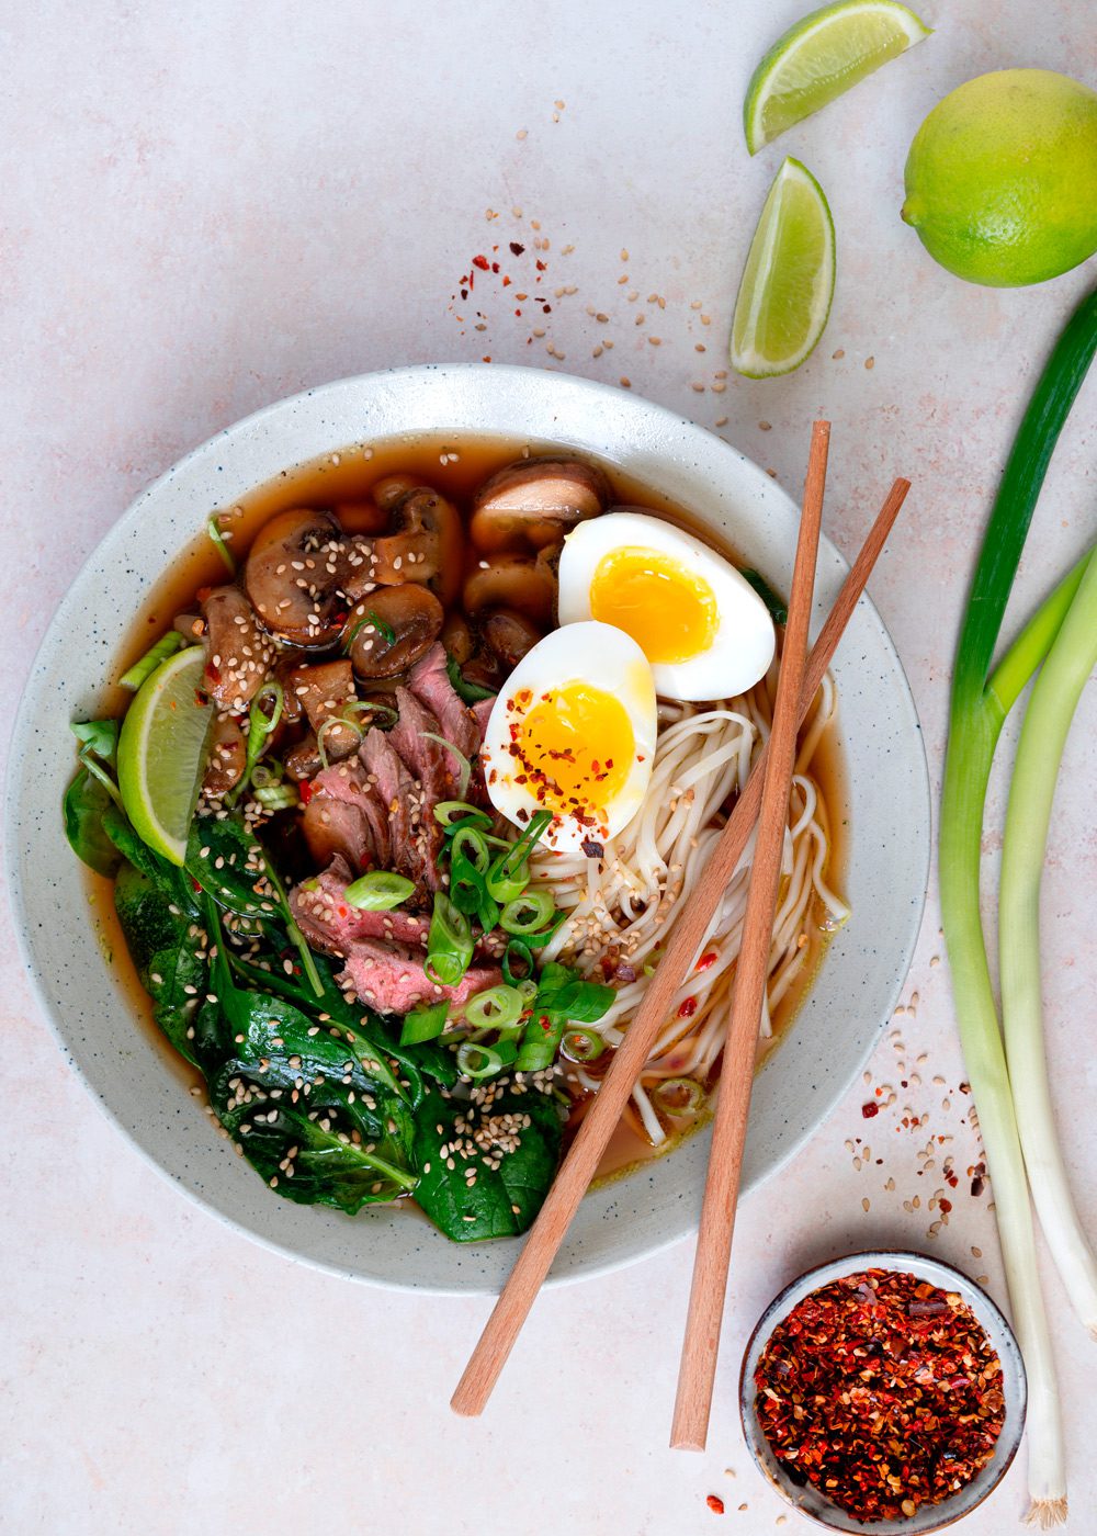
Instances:
[[[699,656],[719,627],[708,582],[658,550],[628,547],[598,562],[590,614],[631,634],[653,665]]]

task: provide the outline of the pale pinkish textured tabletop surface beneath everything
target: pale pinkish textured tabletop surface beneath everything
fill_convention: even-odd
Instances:
[[[847,551],[891,476],[910,475],[916,488],[873,594],[937,785],[971,558],[1036,370],[1095,273],[1091,263],[1028,292],[954,281],[897,218],[902,164],[928,108],[969,75],[1092,65],[1092,8],[926,0],[939,28],[926,45],[790,134],[787,149],[750,161],[745,81],[802,9],[0,6],[0,713],[11,714],[83,558],[186,449],[303,386],[487,355],[624,375],[707,425],[725,418],[718,430],[793,490],[807,424],[830,416],[828,527]],[[794,376],[725,382],[734,287],[782,151],[830,195],[834,310]],[[512,240],[527,246],[521,261]],[[538,338],[529,307],[513,315],[533,240],[548,240],[539,292],[552,303],[547,321],[533,319]],[[452,304],[472,255],[493,243],[515,286],[481,281],[475,303]],[[575,292],[555,296],[559,287]],[[595,356],[607,338],[613,349]],[[1011,613],[1092,539],[1095,389],[1063,436]],[[1066,753],[1043,946],[1056,1098],[1091,1230],[1095,710],[1086,697]],[[991,854],[1000,813],[999,783]],[[940,954],[934,891],[905,995],[917,1003],[896,1021],[905,1051],[885,1038],[873,1061],[874,1081],[897,1087],[906,1075],[910,1089],[871,1123],[859,1112],[871,1089],[857,1089],[741,1213],[710,1452],[694,1458],[665,1448],[688,1246],[545,1296],[487,1416],[458,1421],[446,1402],[486,1303],[340,1284],[194,1209],[69,1077],[5,931],[0,1525],[18,1536],[352,1524],[701,1533],[714,1528],[705,1495],[716,1491],[730,1530],[770,1531],[782,1505],[747,1461],[734,1389],[745,1333],[771,1293],[816,1258],[902,1243],[989,1275],[1002,1295],[988,1197],[973,1200],[965,1178],[977,1152],[956,1092]],[[906,1104],[930,1114],[919,1135],[897,1127]],[[960,1174],[950,1226],[933,1240],[926,1201],[942,1181],[939,1169],[919,1177],[916,1161],[931,1130],[956,1138],[946,1150]],[[856,1170],[845,1143],[862,1135],[871,1161]],[[905,1209],[916,1195],[920,1209]],[[1097,1519],[1092,1346],[1051,1273],[1048,1298],[1074,1528],[1085,1531]],[[1023,1456],[965,1530],[991,1536],[1022,1508]]]

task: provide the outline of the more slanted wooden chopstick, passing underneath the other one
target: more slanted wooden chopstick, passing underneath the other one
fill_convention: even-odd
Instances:
[[[842,590],[819,633],[819,639],[811,648],[804,688],[800,691],[800,725],[811,710],[814,697],[819,693],[819,685],[824,680],[827,668],[834,659],[837,642],[842,639],[842,633],[853,616],[853,610],[860,601],[860,594],[868,584],[868,578],[871,576],[880,550],[891,533],[908,490],[910,481],[897,479],[888,492],[887,501],[883,502],[883,507],[880,508],[876,522],[873,524],[868,538],[865,539],[860,553],[850,570],[850,574],[842,584]],[[719,889],[722,889],[731,877],[731,872],[742,857],[744,848],[750,842],[750,834],[754,829],[757,809],[762,803],[762,777],[767,759],[768,746],[759,754],[750,779],[747,780],[747,786],[736,800],[721,840],[710,857],[710,865],[719,859]],[[667,952],[648,983],[644,1001],[625,1031],[624,1041],[613,1054],[613,1061],[602,1078],[602,1086],[595,1095],[595,1101],[587,1111],[576,1138],[556,1172],[556,1178],[553,1180],[553,1186],[548,1190],[545,1203],[541,1207],[536,1221],[530,1227],[525,1246],[518,1255],[518,1261],[515,1263],[510,1278],[507,1279],[507,1284],[495,1304],[492,1316],[479,1336],[476,1349],[464,1369],[464,1375],[461,1376],[456,1392],[450,1399],[450,1405],[455,1413],[472,1416],[484,1412],[484,1405],[492,1395],[492,1389],[499,1379],[499,1373],[515,1347],[515,1341],[530,1313],[530,1307],[533,1306],[541,1286],[544,1284],[544,1278],[552,1267],[552,1261],[556,1258],[559,1246],[567,1235],[567,1229],[579,1209],[579,1201],[587,1192],[610,1137],[621,1120],[621,1114],[631,1095],[633,1084],[639,1078],[644,1063],[651,1052],[651,1044],[655,1043],[655,1038],[667,1017],[670,1000],[696,957],[718,895],[719,891],[713,892],[713,905],[708,911],[698,908],[690,925],[690,934],[682,938],[681,943],[674,942],[674,935],[671,935],[671,943],[667,946]],[[682,926],[688,915],[688,912],[682,914]]]

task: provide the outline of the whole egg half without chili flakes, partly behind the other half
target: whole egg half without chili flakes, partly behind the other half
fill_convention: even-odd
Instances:
[[[773,660],[773,619],[750,582],[701,539],[642,511],[605,513],[564,539],[559,622],[581,619],[630,634],[667,699],[730,699]]]

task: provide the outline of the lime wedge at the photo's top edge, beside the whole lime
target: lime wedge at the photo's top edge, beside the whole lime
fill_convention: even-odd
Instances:
[[[805,15],[750,77],[742,108],[747,149],[756,155],[931,31],[896,0],[839,0]]]

